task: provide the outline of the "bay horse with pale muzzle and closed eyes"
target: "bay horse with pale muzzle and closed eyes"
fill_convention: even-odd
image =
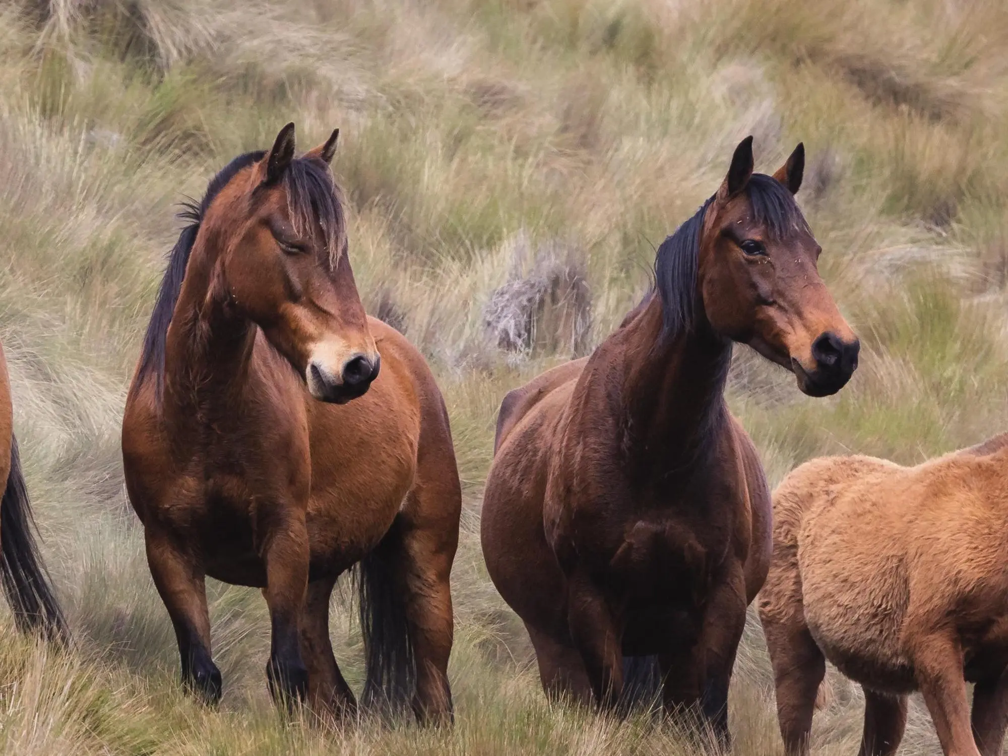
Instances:
[[[263,589],[274,699],[354,715],[329,608],[361,562],[365,702],[449,721],[462,494],[448,412],[420,354],[364,312],[329,167],[338,134],[294,157],[287,124],[190,208],[126,402],[126,486],[187,686],[221,697],[210,576]]]

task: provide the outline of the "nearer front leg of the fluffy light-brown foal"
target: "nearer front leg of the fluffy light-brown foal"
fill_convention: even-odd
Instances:
[[[908,627],[914,627],[912,620],[908,615]],[[937,730],[941,750],[946,756],[980,756],[970,724],[959,639],[948,631],[918,631],[907,641],[920,692]]]

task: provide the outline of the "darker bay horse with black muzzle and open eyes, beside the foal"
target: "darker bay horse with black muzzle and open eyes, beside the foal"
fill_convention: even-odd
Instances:
[[[799,144],[774,175],[754,174],[743,140],[622,326],[501,404],[483,551],[549,696],[620,712],[652,675],[664,711],[699,704],[728,741],[732,665],[770,560],[769,490],[724,398],[732,345],[812,396],[857,366],[792,197],[803,164]],[[639,658],[655,655],[657,674]]]

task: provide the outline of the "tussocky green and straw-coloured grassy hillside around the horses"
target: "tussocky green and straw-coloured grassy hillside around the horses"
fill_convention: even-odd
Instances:
[[[718,185],[794,143],[821,270],[863,343],[837,397],[739,350],[732,406],[772,482],[822,454],[904,463],[1008,427],[1008,8],[999,0],[8,0],[0,3],[0,339],[68,654],[0,617],[0,743],[17,754],[678,754],[674,733],[546,705],[479,551],[504,392],[589,350],[654,248]],[[457,726],[281,722],[256,591],[215,584],[221,708],[177,689],[125,500],[119,423],[174,204],[297,123],[334,126],[365,303],[442,383],[466,491],[454,573]],[[361,643],[346,602],[337,656]],[[814,751],[851,753],[831,677]],[[780,751],[750,623],[736,753]],[[919,705],[903,753],[938,753]]]

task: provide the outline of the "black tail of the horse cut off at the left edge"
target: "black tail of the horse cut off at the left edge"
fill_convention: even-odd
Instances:
[[[0,501],[0,582],[18,630],[41,632],[49,640],[67,641],[67,620],[38,553],[31,532],[34,524],[17,438],[11,437],[10,474]]]

